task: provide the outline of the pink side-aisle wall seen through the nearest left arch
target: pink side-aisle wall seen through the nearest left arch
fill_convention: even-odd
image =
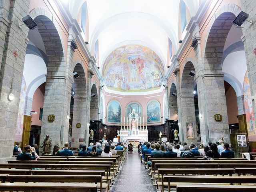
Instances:
[[[45,83],[40,85],[34,92],[32,111],[37,112],[37,114],[32,114],[31,125],[42,126],[42,121],[39,120],[39,115],[40,115],[40,107],[43,108],[44,106],[44,91],[45,91]]]

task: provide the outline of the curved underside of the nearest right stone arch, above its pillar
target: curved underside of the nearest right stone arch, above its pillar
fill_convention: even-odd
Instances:
[[[222,6],[209,22],[209,29],[204,43],[203,70],[207,73],[222,72],[223,49],[232,27],[232,21],[241,9],[235,4]]]

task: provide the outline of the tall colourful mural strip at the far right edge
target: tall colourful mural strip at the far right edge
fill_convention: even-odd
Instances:
[[[248,140],[256,141],[256,127],[255,127],[255,118],[252,107],[251,91],[250,91],[250,82],[248,78],[248,72],[246,72],[244,77],[244,107],[246,114],[246,124],[248,131]]]

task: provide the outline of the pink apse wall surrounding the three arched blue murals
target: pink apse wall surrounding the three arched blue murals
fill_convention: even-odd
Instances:
[[[127,106],[127,104],[129,104],[130,102],[138,102],[139,104],[141,104],[142,106],[142,116],[144,117],[144,125],[145,125],[145,119],[147,116],[147,104],[150,100],[158,100],[160,102],[160,112],[161,115],[163,115],[163,98],[164,98],[164,91],[160,92],[160,93],[156,93],[156,94],[148,94],[148,95],[142,95],[142,96],[125,96],[125,95],[119,95],[119,94],[112,94],[112,93],[108,93],[105,92],[105,90],[103,90],[103,94],[105,96],[105,114],[107,116],[108,112],[107,112],[107,106],[108,106],[108,102],[110,102],[111,100],[117,100],[120,104],[121,104],[121,116],[123,118],[123,122],[124,122],[124,116],[125,116],[125,108]],[[162,122],[160,123],[151,123],[151,124],[162,124],[163,123],[163,119],[160,118]],[[107,124],[111,124],[111,123],[107,123]]]

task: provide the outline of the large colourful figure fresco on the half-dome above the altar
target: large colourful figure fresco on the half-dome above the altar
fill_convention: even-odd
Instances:
[[[151,49],[129,44],[112,51],[106,58],[102,75],[106,86],[121,92],[145,92],[161,87],[164,67]]]

